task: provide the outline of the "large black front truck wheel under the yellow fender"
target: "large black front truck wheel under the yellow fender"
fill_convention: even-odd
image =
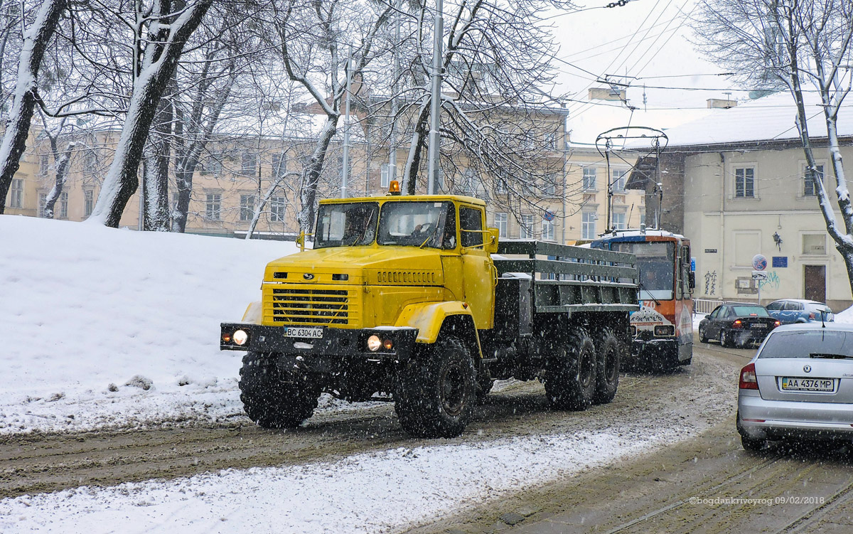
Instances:
[[[415,437],[454,438],[471,419],[477,395],[471,354],[450,335],[425,348],[399,371],[394,411]]]

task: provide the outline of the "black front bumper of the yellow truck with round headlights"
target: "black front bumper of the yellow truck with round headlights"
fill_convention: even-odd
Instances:
[[[270,327],[248,322],[223,322],[219,334],[219,349],[222,351],[277,352],[298,357],[363,357],[368,360],[391,360],[404,362],[415,351],[417,328],[329,328],[322,329],[322,338],[298,338],[285,335],[285,328]],[[237,345],[233,334],[243,330],[248,334],[244,345]],[[369,351],[367,340],[371,335],[392,340],[393,347],[386,350]],[[226,341],[228,336],[229,341]]]

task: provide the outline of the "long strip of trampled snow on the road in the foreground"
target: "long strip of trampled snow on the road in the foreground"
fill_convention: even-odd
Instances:
[[[386,532],[693,434],[661,427],[398,448],[0,501],[3,532]]]

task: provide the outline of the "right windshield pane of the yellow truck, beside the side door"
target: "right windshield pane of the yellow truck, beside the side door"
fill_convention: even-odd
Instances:
[[[451,202],[386,202],[379,221],[380,245],[456,248],[456,213]]]

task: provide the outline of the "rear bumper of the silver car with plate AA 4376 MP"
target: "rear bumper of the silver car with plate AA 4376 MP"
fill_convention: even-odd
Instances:
[[[740,432],[751,438],[853,438],[853,406],[847,403],[771,401],[740,390],[738,414]]]

